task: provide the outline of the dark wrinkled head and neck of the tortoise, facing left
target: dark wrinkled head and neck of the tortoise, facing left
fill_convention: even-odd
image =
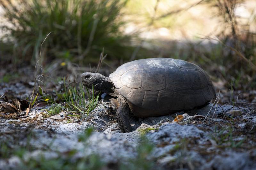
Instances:
[[[83,85],[90,89],[92,89],[93,85],[94,90],[100,90],[108,94],[113,93],[115,90],[112,80],[100,73],[85,72],[81,75],[81,79]]]

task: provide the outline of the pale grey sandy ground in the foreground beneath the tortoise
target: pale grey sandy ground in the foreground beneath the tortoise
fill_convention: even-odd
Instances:
[[[21,86],[17,85],[16,95],[24,97],[26,93],[22,90],[27,89]],[[12,85],[5,85],[0,92],[8,92],[10,88],[15,89]],[[176,114],[144,119],[130,115],[133,130],[130,133],[121,132],[115,120],[115,110],[108,101],[100,101],[87,121],[77,120],[63,112],[59,114],[60,120],[40,119],[45,108],[37,107],[26,118],[0,119],[1,141],[14,140],[12,136],[18,135],[19,141],[15,144],[22,147],[28,142],[25,132],[29,129],[33,133],[29,144],[34,148],[22,158],[1,158],[0,169],[15,169],[21,160],[42,155],[52,159],[72,150],[77,151],[73,159],[97,154],[108,165],[129,164],[131,159],[138,159],[138,147],[143,147],[142,136],[154,147],[147,159],[152,160],[157,169],[255,169],[256,113],[250,107],[211,107],[212,104],[197,110],[194,116],[177,113],[182,115],[178,121],[174,121]],[[240,110],[242,114],[235,117],[228,113],[232,110]],[[86,142],[81,141],[79,137],[88,127],[93,127],[94,132]],[[221,130],[226,135],[230,129],[232,137],[221,136]]]

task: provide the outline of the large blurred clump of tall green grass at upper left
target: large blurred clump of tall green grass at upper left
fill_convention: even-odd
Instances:
[[[132,53],[130,36],[121,33],[120,19],[126,1],[119,0],[0,0],[7,32],[19,61],[35,61],[44,42],[42,57],[72,61],[98,61],[104,48],[108,59]],[[128,51],[128,52],[127,52]],[[131,51],[131,52],[130,52]]]

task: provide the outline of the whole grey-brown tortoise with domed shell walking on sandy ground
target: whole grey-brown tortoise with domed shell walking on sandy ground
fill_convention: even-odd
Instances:
[[[109,77],[85,72],[82,83],[104,92],[116,107],[122,132],[131,132],[129,114],[153,117],[203,107],[216,98],[212,81],[199,66],[172,58],[147,58],[124,63]]]

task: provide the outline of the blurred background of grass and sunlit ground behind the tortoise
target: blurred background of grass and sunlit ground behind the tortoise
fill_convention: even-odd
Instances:
[[[198,64],[216,87],[256,86],[253,0],[0,0],[0,21],[1,82],[38,61],[45,74],[83,72],[101,56],[94,71],[108,74],[172,57]]]

